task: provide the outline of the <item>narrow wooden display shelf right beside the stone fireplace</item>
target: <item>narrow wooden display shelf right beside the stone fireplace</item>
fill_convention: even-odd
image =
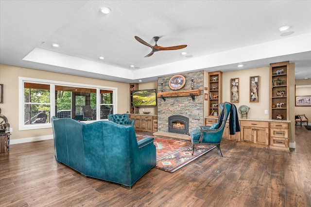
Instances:
[[[208,73],[208,115],[218,117],[220,113],[219,104],[223,101],[223,72],[215,71]],[[217,112],[217,115],[214,114]]]

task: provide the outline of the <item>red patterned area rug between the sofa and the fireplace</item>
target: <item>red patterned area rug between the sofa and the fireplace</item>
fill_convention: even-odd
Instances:
[[[140,140],[144,137],[148,136],[139,136],[137,138]],[[196,144],[194,154],[191,155],[192,146],[189,141],[155,137],[154,144],[156,147],[155,168],[169,173],[175,172],[215,148],[215,146]]]

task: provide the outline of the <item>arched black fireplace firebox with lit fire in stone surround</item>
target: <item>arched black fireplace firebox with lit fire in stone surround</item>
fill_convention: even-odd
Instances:
[[[189,135],[189,118],[182,115],[170,116],[169,132]]]

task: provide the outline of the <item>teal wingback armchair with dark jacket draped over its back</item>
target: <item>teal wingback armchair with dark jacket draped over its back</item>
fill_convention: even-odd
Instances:
[[[195,144],[215,145],[220,157],[223,157],[220,150],[220,142],[225,129],[225,123],[231,111],[231,104],[228,102],[220,103],[221,113],[218,117],[218,123],[212,126],[201,126],[200,129],[191,131],[192,155]]]

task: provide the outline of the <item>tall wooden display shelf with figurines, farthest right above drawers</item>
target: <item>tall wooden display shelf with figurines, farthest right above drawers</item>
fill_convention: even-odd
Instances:
[[[270,64],[270,119],[289,119],[289,61]]]

